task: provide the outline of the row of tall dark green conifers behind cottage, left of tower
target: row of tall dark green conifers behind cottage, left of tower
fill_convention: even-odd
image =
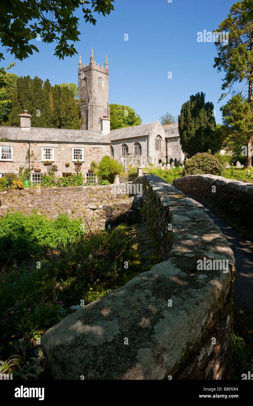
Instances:
[[[80,130],[82,118],[80,105],[74,99],[73,89],[68,85],[51,86],[47,79],[35,76],[17,78],[11,97],[12,108],[6,125],[19,127],[19,114],[28,110],[32,115],[32,127],[67,128]]]

